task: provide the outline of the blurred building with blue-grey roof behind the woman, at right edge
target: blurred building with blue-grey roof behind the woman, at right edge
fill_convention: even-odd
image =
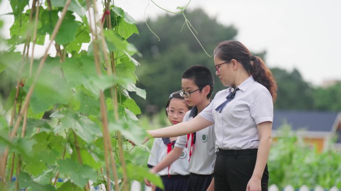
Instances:
[[[275,110],[272,125],[275,141],[280,136],[279,127],[284,124],[289,124],[306,143],[316,145],[319,152],[335,139],[332,146],[341,149],[341,112]]]

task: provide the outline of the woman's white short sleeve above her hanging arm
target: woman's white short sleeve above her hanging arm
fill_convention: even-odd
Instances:
[[[250,105],[250,113],[257,125],[261,122],[273,121],[272,96],[265,87],[255,94],[255,99]]]

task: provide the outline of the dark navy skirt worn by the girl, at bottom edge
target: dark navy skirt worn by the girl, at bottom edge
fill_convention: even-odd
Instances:
[[[164,183],[165,190],[156,188],[156,191],[187,191],[189,175],[168,175],[161,176],[162,182]]]

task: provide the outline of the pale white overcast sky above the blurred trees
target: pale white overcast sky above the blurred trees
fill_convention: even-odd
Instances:
[[[7,0],[2,1],[1,13],[10,7]],[[173,11],[188,2],[154,1]],[[115,4],[143,21],[148,0],[115,0]],[[316,85],[341,80],[341,0],[192,0],[188,9],[197,7],[224,25],[235,25],[237,40],[251,51],[266,50],[269,67],[297,68]],[[165,11],[150,2],[147,17],[160,14]],[[6,20],[5,26],[13,22],[9,17],[0,19]]]

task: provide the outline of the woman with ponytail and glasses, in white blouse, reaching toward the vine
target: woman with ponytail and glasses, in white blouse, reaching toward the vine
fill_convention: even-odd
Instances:
[[[267,191],[276,82],[262,59],[238,41],[220,42],[213,55],[216,75],[229,88],[218,92],[192,120],[148,133],[179,136],[214,123],[214,190]]]

